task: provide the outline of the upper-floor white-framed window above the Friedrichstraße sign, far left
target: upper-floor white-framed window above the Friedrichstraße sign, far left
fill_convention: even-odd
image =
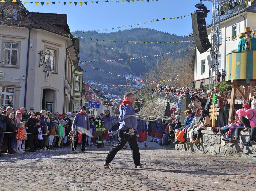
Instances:
[[[17,66],[18,65],[18,44],[4,43],[4,65]]]

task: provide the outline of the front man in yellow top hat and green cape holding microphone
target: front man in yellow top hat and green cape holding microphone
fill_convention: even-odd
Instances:
[[[256,50],[256,39],[251,36],[250,27],[246,27],[244,29],[244,33],[246,34],[246,36],[240,40],[237,51]]]

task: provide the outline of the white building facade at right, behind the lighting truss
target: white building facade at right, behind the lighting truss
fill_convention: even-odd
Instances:
[[[244,32],[244,27],[256,28],[256,4],[235,13],[220,22],[219,70],[227,69],[227,54],[237,51],[240,41],[238,35]],[[207,28],[208,38],[211,42],[211,26]],[[235,36],[235,37],[234,37]],[[202,84],[209,84],[210,52],[200,54],[195,51],[195,88]],[[227,70],[226,70],[227,71]],[[230,74],[227,74],[230,75]]]

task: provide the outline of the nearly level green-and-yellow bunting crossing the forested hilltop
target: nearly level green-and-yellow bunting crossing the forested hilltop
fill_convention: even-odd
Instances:
[[[92,41],[104,41],[104,42],[114,42],[114,43],[134,43],[134,44],[153,44],[153,43],[186,43],[186,42],[191,42],[191,43],[194,43],[195,41],[194,40],[190,40],[190,41],[173,41],[173,42],[170,42],[170,41],[152,41],[152,42],[144,42],[144,41],[132,41],[132,40],[105,40],[105,39],[100,39],[100,38],[90,38],[90,37],[80,37],[80,36],[74,36],[76,38],[82,38],[82,39],[88,39],[88,40],[92,40]]]

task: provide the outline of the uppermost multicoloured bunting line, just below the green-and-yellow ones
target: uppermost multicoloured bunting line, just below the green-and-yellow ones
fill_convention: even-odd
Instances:
[[[120,60],[136,60],[136,59],[142,59],[142,58],[148,58],[148,57],[158,57],[158,56],[164,56],[166,54],[172,54],[172,53],[179,53],[179,52],[184,52],[184,51],[191,51],[191,50],[194,50],[195,48],[190,48],[190,49],[187,49],[187,50],[177,50],[175,52],[167,52],[167,53],[163,53],[163,54],[156,54],[156,55],[151,55],[151,56],[141,56],[141,57],[137,57],[137,58],[119,58],[119,59],[115,59],[115,60],[83,60],[83,61],[80,61],[83,62],[82,64],[85,65],[86,63],[91,63],[91,62],[118,62]],[[93,67],[93,69],[97,70],[96,67]]]

